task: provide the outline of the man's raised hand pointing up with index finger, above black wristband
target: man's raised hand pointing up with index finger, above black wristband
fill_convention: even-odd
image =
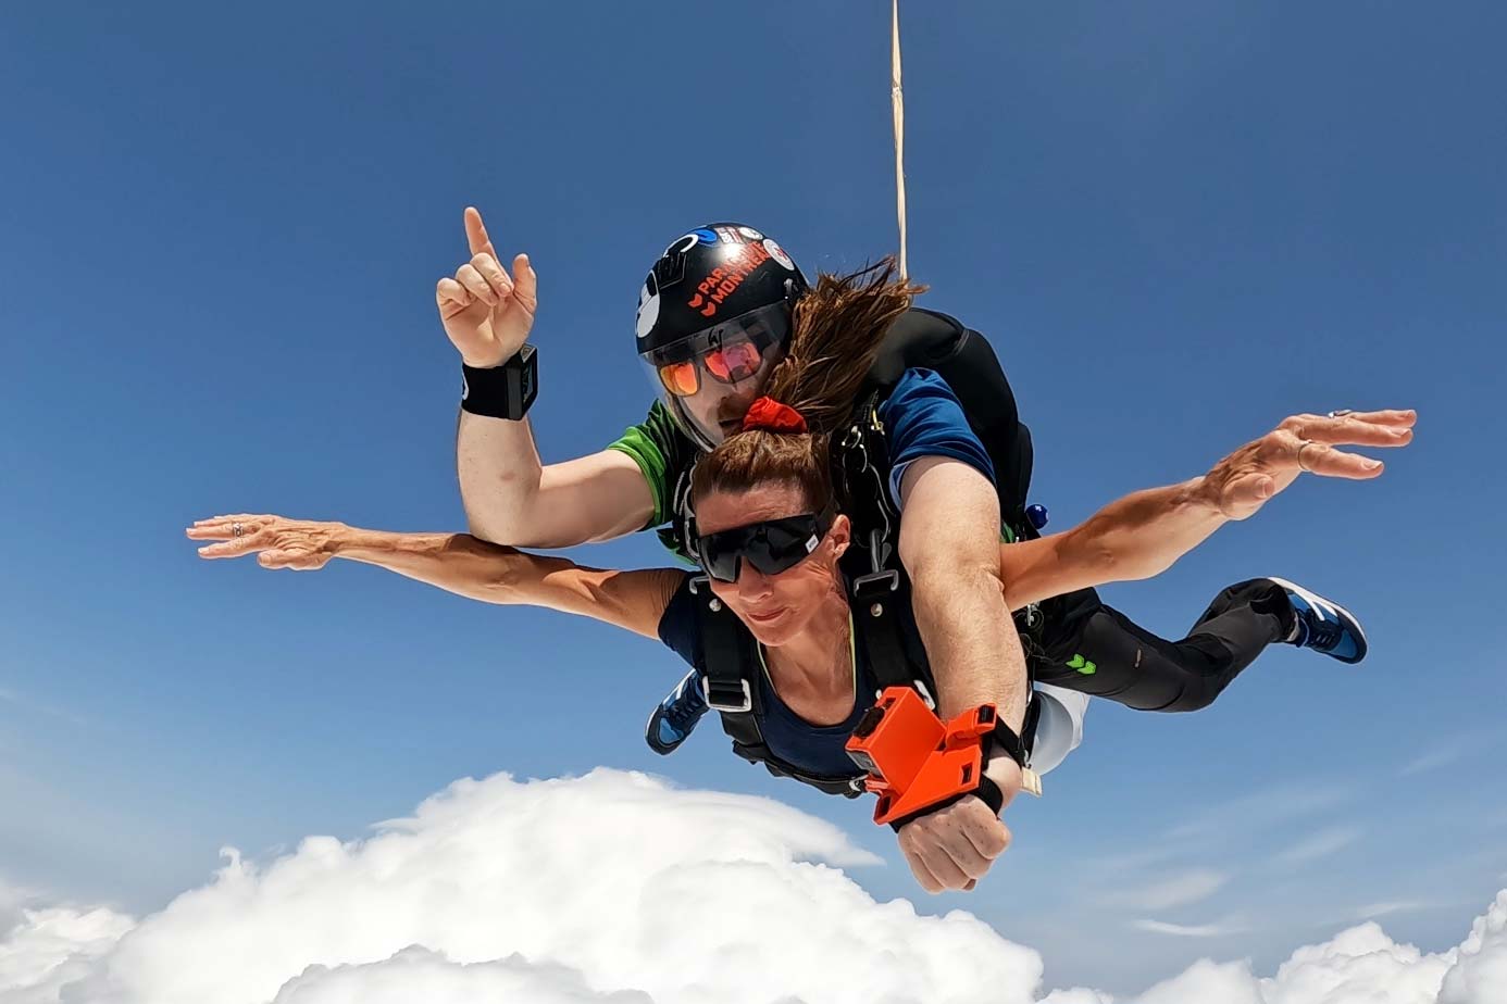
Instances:
[[[440,322],[467,366],[502,366],[523,348],[533,327],[538,275],[527,254],[512,259],[511,277],[503,271],[475,206],[466,206],[466,241],[470,260],[434,288]]]

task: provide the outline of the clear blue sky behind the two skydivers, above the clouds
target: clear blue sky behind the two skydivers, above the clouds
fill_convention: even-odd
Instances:
[[[689,226],[746,220],[808,272],[892,250],[888,6],[33,5],[0,15],[0,879],[146,911],[223,844],[606,763],[838,822],[889,861],[854,873],[876,896],[974,911],[1049,984],[1272,963],[1365,912],[1453,944],[1507,885],[1507,14],[919,9],[912,272],[999,351],[1055,528],[1291,412],[1420,411],[1382,480],[1301,482],[1106,590],[1177,635],[1279,573],[1365,620],[1362,667],[1279,649],[1198,715],[1096,704],[996,875],[930,899],[867,807],[714,724],[650,753],[680,668],[648,641],[205,564],[182,527],[220,512],[463,528],[433,286],[467,203],[540,272],[546,459],[642,415],[637,288]]]

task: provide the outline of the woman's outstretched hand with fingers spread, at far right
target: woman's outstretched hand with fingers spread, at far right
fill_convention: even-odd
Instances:
[[[1417,420],[1411,409],[1291,415],[1215,464],[1200,492],[1227,518],[1246,519],[1304,473],[1368,480],[1385,465],[1337,447],[1408,446]]]

